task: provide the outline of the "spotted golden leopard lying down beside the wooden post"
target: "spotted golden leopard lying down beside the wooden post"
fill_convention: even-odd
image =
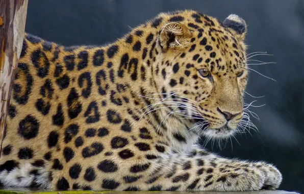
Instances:
[[[158,14],[107,45],[25,33],[0,183],[50,190],[277,189],[274,164],[221,157],[244,118],[247,25],[194,10]]]

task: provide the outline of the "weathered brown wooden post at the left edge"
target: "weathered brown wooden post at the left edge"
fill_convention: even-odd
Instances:
[[[0,157],[15,77],[26,25],[28,0],[0,0]]]

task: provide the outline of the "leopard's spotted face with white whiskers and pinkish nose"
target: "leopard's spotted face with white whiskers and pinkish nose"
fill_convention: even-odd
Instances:
[[[225,22],[212,22],[216,25],[204,26],[204,30],[191,28],[191,21],[188,25],[173,23],[167,31],[185,31],[185,36],[164,35],[171,42],[162,54],[160,71],[165,75],[165,91],[179,104],[179,110],[173,111],[176,115],[190,120],[205,136],[228,137],[243,117],[248,75],[245,32],[237,33],[225,27]]]

